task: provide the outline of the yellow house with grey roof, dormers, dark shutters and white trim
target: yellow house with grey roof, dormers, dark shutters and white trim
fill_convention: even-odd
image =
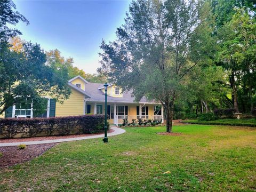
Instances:
[[[68,81],[71,88],[69,99],[63,104],[54,99],[45,97],[45,112],[36,114],[32,103],[19,103],[5,111],[5,117],[33,118],[33,117],[60,117],[85,114],[107,114],[109,122],[122,123],[127,118],[132,119],[158,119],[163,121],[163,106],[156,110],[159,103],[149,102],[142,98],[140,102],[134,102],[131,92],[123,93],[122,89],[115,85],[109,85],[107,90],[107,109],[105,109],[105,87],[103,83],[90,83],[83,77],[76,76]]]

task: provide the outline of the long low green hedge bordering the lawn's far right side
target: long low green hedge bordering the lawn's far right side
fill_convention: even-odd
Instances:
[[[217,119],[214,121],[199,121],[198,119],[189,119],[182,122],[192,124],[207,124],[207,125],[233,125],[233,126],[252,126],[256,127],[256,118],[250,119]]]

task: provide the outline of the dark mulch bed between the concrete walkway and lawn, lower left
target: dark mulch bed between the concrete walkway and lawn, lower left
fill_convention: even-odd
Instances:
[[[0,147],[0,152],[3,154],[0,157],[0,167],[7,167],[27,162],[30,159],[43,154],[54,145],[54,143],[27,145],[25,149],[18,149],[17,146]]]

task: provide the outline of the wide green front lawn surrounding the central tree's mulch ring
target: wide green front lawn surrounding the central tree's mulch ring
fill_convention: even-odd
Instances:
[[[210,125],[129,127],[60,143],[3,169],[0,191],[255,191],[256,130]],[[170,171],[170,173],[163,174]]]

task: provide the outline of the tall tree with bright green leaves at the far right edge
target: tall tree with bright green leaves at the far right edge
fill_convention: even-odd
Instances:
[[[242,7],[234,8],[233,13],[231,19],[225,22],[218,30],[221,47],[218,53],[218,62],[225,69],[231,70],[230,86],[234,109],[239,111],[238,89],[239,85],[242,85],[245,95],[247,95],[246,89],[248,89],[250,109],[252,110],[254,103],[253,92],[255,92],[253,90],[253,79],[255,79],[254,55],[256,54],[256,20],[253,17],[255,12],[252,16],[246,7]],[[244,105],[242,106],[243,108]],[[244,108],[244,110],[246,109]]]

